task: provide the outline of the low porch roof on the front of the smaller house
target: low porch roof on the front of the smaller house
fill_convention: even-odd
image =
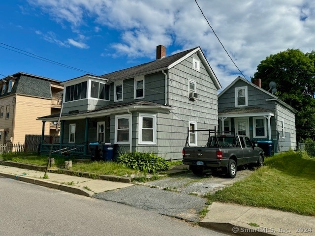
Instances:
[[[219,118],[274,116],[274,112],[261,107],[239,107],[225,109],[218,113]]]

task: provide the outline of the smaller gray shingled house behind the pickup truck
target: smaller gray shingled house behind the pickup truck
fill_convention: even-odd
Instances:
[[[221,131],[247,135],[267,155],[296,149],[296,110],[277,96],[237,77],[218,96]]]

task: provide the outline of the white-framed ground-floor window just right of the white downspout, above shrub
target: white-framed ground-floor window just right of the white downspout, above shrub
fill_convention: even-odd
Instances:
[[[156,144],[156,115],[139,114],[139,144]]]

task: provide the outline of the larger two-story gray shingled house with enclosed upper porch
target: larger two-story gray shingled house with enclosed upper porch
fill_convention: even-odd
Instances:
[[[89,157],[91,143],[105,152],[154,152],[182,159],[188,128],[218,126],[221,85],[200,47],[102,76],[84,75],[63,82],[61,142],[53,150],[74,147],[72,153]],[[43,125],[44,127],[44,125]],[[189,133],[189,145],[204,145],[208,136]],[[42,144],[41,151],[50,150]]]

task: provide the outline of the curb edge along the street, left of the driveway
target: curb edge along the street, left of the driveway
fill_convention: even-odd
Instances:
[[[78,187],[78,186],[73,186],[73,185],[70,186],[70,185],[51,182],[51,181],[45,180],[45,179],[37,179],[37,178],[24,177],[24,176],[19,176],[19,175],[11,175],[11,174],[6,174],[6,173],[2,173],[2,172],[0,172],[0,176],[6,177],[6,178],[11,178],[11,179],[16,179],[16,180],[19,180],[22,182],[40,185],[43,187],[54,188],[54,189],[58,189],[58,190],[61,190],[64,192],[74,193],[74,194],[82,195],[82,196],[86,196],[86,197],[93,197],[94,196],[94,192],[86,190],[86,189]]]

